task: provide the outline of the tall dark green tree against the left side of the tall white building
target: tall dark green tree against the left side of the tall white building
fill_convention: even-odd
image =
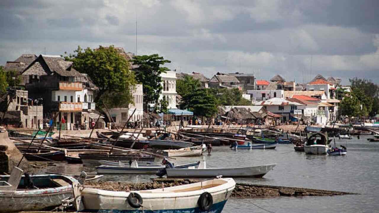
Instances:
[[[165,60],[158,54],[134,56],[132,60],[133,65],[137,68],[135,71],[136,80],[143,85],[144,94],[144,110],[147,111],[147,103],[158,103],[159,96],[163,89],[161,85],[162,73],[169,71],[167,67],[161,67],[166,63],[171,63],[169,60]]]

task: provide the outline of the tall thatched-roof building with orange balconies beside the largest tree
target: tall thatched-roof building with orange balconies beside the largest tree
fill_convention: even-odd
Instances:
[[[63,129],[72,130],[75,123],[89,121],[83,111],[96,108],[93,92],[96,86],[88,76],[72,67],[72,62],[60,56],[39,55],[22,72],[25,88],[31,99],[43,100],[45,118],[58,113],[57,121],[64,121]]]

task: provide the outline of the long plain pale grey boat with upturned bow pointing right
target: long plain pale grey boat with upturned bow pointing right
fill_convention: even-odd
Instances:
[[[166,169],[167,177],[263,177],[276,164],[240,168]]]

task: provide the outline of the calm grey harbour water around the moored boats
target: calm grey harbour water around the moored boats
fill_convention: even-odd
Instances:
[[[208,168],[243,167],[276,163],[262,179],[235,179],[236,182],[265,185],[294,186],[323,190],[349,191],[361,195],[322,197],[280,197],[274,199],[229,199],[223,213],[267,212],[379,212],[379,143],[368,142],[367,137],[336,140],[347,145],[347,156],[305,155],[294,152],[292,144],[279,144],[275,150],[238,150],[213,147],[211,156],[178,158],[175,164],[205,160]],[[157,163],[159,161],[157,160]],[[56,164],[48,171],[78,174],[81,165]],[[93,168],[84,168],[95,172]],[[106,175],[105,180],[143,182],[150,175]]]

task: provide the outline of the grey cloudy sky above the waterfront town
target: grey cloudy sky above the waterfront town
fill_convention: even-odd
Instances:
[[[378,9],[378,0],[2,0],[0,64],[113,44],[207,77],[307,82],[322,74],[379,84]]]

